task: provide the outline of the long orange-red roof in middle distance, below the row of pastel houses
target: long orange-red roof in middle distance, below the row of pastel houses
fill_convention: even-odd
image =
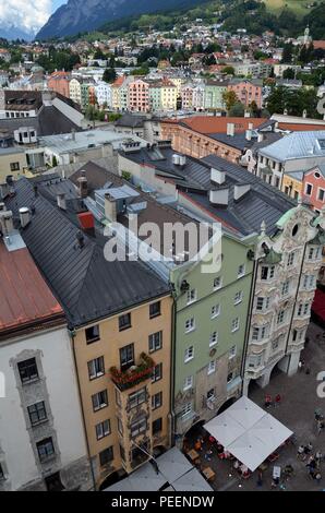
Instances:
[[[227,123],[234,123],[237,132],[244,132],[248,130],[249,123],[253,123],[253,127],[257,128],[265,121],[266,118],[224,118],[218,116],[195,116],[180,120],[181,123],[200,133],[226,133]]]

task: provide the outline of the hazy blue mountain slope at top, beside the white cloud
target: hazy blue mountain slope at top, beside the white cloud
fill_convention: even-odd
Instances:
[[[36,39],[72,36],[94,31],[108,21],[200,3],[204,3],[204,0],[69,0],[50,16]]]

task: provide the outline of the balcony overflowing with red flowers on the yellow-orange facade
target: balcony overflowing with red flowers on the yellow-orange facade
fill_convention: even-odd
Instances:
[[[118,370],[117,367],[111,367],[110,377],[118,389],[124,391],[148,380],[153,373],[154,367],[154,360],[145,353],[142,353],[137,366],[130,367],[130,369],[125,371]]]

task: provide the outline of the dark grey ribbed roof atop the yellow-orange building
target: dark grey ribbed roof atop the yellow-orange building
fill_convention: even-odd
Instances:
[[[17,218],[19,208],[35,206],[23,239],[48,285],[61,302],[70,327],[103,319],[143,301],[168,294],[169,287],[141,262],[107,262],[107,239],[84,234],[76,243],[76,226],[41,193],[35,196],[26,178],[15,182],[16,194],[7,201]]]

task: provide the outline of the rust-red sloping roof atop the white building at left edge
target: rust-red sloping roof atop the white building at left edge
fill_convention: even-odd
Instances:
[[[9,252],[0,242],[0,336],[62,323],[63,310],[26,248]]]

